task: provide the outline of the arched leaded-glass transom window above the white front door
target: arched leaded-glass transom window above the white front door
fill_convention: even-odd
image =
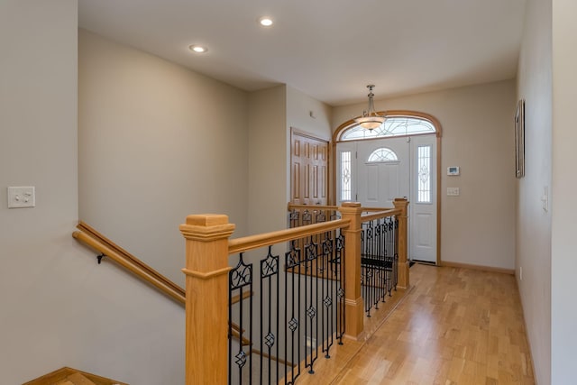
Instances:
[[[391,136],[436,133],[435,125],[417,116],[387,116],[384,124],[374,130],[367,130],[360,125],[353,125],[341,134],[341,141],[358,141],[362,139],[386,138]]]

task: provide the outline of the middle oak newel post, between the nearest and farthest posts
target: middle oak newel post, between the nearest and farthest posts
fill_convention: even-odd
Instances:
[[[345,202],[339,207],[343,219],[351,219],[344,235],[344,335],[359,339],[364,321],[361,292],[361,214],[360,203]]]

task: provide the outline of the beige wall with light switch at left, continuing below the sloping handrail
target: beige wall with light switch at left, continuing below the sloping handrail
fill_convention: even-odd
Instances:
[[[68,365],[133,384],[184,382],[184,311],[70,236],[78,220],[77,4],[0,2],[0,373]],[[7,186],[36,207],[8,209]],[[178,231],[175,229],[175,231]]]

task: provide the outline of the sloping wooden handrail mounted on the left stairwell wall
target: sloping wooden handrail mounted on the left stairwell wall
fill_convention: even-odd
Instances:
[[[98,252],[105,253],[107,257],[122,265],[127,270],[130,270],[134,275],[140,277],[142,280],[145,280],[157,289],[160,289],[160,291],[168,295],[170,298],[175,299],[180,304],[186,303],[185,293],[182,288],[162,276],[158,271],[153,270],[144,262],[139,261],[140,263],[138,264],[133,263],[133,259],[135,259],[134,256],[131,256],[131,259],[126,258],[124,253],[120,253],[116,248],[111,247],[110,244],[103,243],[101,240],[96,239],[92,234],[75,231],[72,233],[72,236],[78,241],[86,243],[88,246],[96,249]]]

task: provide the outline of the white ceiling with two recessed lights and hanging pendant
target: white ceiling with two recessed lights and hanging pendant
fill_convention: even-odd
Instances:
[[[247,91],[288,84],[346,105],[368,84],[380,99],[515,78],[525,3],[78,0],[78,25]]]

